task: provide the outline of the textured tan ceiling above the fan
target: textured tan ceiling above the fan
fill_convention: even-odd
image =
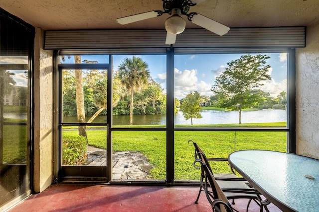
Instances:
[[[162,10],[162,0],[0,0],[0,7],[44,30],[164,29],[169,15],[120,25],[116,18]],[[196,11],[229,27],[308,26],[319,0],[205,0]],[[187,21],[187,28],[198,28]]]

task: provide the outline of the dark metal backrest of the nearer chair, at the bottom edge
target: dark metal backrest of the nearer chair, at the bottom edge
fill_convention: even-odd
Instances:
[[[206,156],[200,152],[197,153],[197,156],[202,157],[202,158],[206,158]],[[221,188],[217,184],[212,172],[209,170],[209,167],[207,166],[207,164],[204,161],[205,160],[202,160],[202,159],[196,159],[194,163],[199,162],[201,165],[201,169],[204,171],[204,174],[205,174],[205,193],[206,193],[208,201],[210,202],[212,207],[214,207],[213,201],[210,200],[210,197],[208,195],[208,184],[209,184],[209,186],[211,187],[211,190],[213,192],[214,200],[217,200],[217,199],[222,200],[230,208],[230,211],[232,211],[226,195],[224,194],[224,192],[221,190]],[[229,211],[228,207],[226,207],[225,204],[220,204],[220,203],[217,203],[217,204],[219,204],[219,209],[221,212],[228,212]]]

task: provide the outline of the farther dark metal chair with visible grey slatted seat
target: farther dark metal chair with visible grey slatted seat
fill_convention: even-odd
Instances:
[[[235,204],[235,201],[234,201],[235,199],[249,199],[246,211],[248,211],[251,201],[254,201],[260,207],[261,212],[263,211],[263,208],[265,208],[266,211],[268,212],[266,205],[269,203],[267,201],[263,201],[260,197],[260,193],[256,189],[250,187],[248,182],[244,178],[240,178],[236,176],[235,174],[213,174],[209,164],[209,160],[215,160],[215,159],[214,158],[208,159],[206,155],[204,154],[204,152],[200,149],[200,147],[194,141],[191,141],[191,142],[193,142],[195,146],[195,156],[194,156],[195,162],[201,161],[201,164],[205,164],[205,167],[207,167],[207,169],[211,173],[211,176],[213,177],[213,180],[217,182],[218,186],[223,191],[227,200],[232,200],[232,204]],[[208,196],[207,198],[218,199],[218,198],[215,198],[213,192],[210,192],[207,189],[207,183],[206,183],[207,172],[205,171],[205,169],[202,166],[201,167],[195,166],[195,168],[201,169],[201,177],[200,177],[201,186],[199,188],[199,193],[195,203],[198,203],[198,199],[202,191],[205,191],[206,196],[209,195],[210,198]]]

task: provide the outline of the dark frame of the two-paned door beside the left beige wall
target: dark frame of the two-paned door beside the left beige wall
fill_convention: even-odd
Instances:
[[[55,53],[58,58],[58,53]],[[109,131],[109,125],[112,121],[112,57],[109,56],[108,64],[58,64],[57,61],[54,63],[57,66],[57,74],[55,74],[55,86],[56,86],[56,100],[55,107],[57,110],[56,116],[56,129],[57,129],[57,140],[55,145],[54,157],[56,158],[56,171],[54,172],[54,181],[83,181],[83,182],[108,182],[109,176],[112,174],[112,144]],[[76,70],[107,70],[108,76],[108,96],[107,96],[107,122],[106,123],[62,123],[62,70],[65,69],[76,69]],[[107,134],[107,164],[106,166],[62,166],[62,127],[63,126],[106,126]]]

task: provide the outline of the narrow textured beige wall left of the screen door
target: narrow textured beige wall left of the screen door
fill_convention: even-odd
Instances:
[[[53,179],[53,52],[43,50],[44,33],[36,28],[34,42],[34,191],[42,192]]]

